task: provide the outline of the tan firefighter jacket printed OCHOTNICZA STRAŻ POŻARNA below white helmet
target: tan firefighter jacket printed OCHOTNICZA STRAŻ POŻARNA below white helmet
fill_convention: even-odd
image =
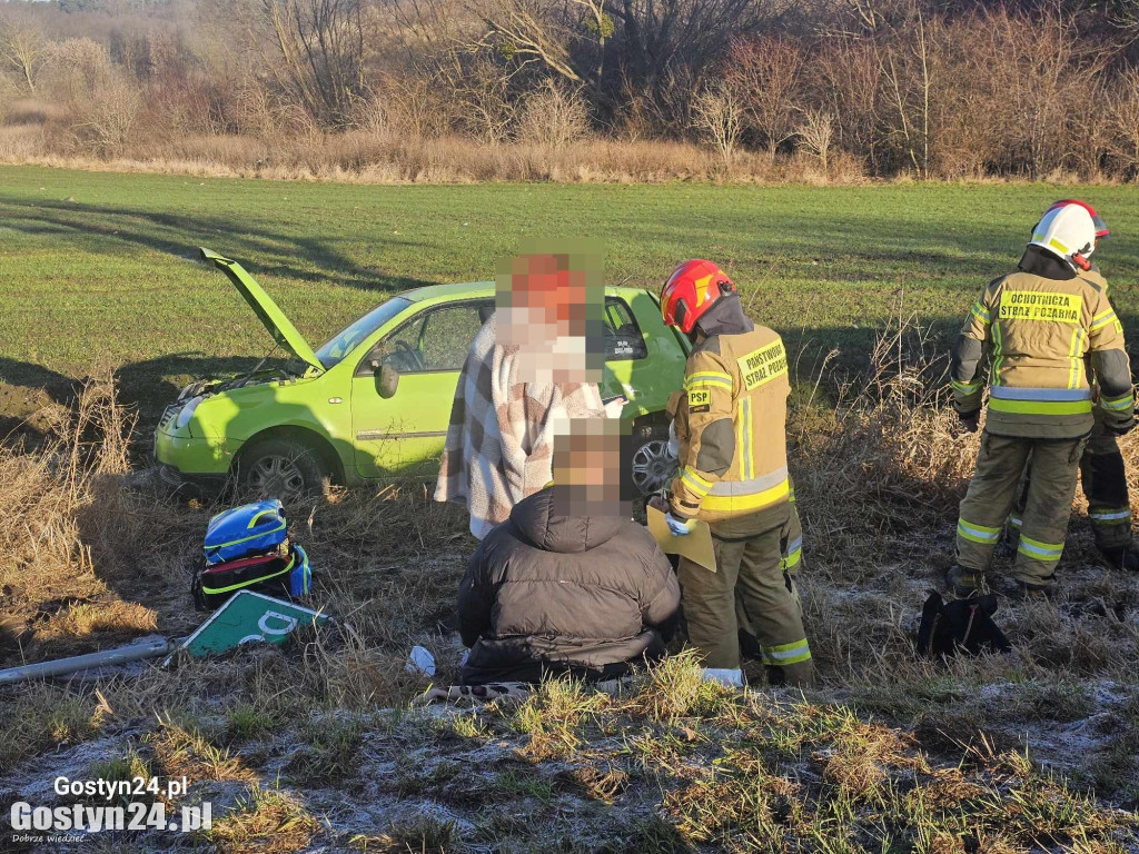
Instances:
[[[950,367],[957,410],[981,409],[988,352],[990,433],[1076,438],[1091,430],[1093,405],[1108,426],[1130,424],[1131,366],[1106,286],[1030,247],[1017,272],[990,282],[969,310]]]

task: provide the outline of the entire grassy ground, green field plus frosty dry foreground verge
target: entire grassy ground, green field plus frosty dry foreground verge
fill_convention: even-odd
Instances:
[[[420,483],[288,506],[337,626],[177,668],[0,687],[9,804],[56,777],[186,778],[213,828],[27,852],[1139,851],[1139,576],[1100,565],[1077,499],[1059,593],[1001,599],[1009,655],[919,660],[977,437],[939,394],[970,302],[1051,202],[1092,203],[1097,260],[1139,339],[1131,187],[269,182],[0,167],[0,667],[185,637],[219,506],[164,492],[148,425],[191,377],[270,348],[207,246],[317,344],[420,284],[492,278],[527,237],[605,241],[611,282],[706,256],[789,342],[798,576],[821,683],[731,692],[687,655],[616,695],[412,705],[456,679],[466,518]],[[837,351],[837,352],[835,352]],[[134,416],[140,419],[133,436]],[[1121,445],[1132,496],[1139,440]],[[1008,558],[997,568],[1007,570]],[[153,798],[151,798],[153,799]]]

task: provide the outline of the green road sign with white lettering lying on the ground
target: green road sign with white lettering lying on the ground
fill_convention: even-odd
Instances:
[[[328,621],[327,614],[318,614],[263,593],[239,590],[179,649],[185,649],[194,658],[202,658],[255,641],[284,643],[297,626],[323,625]]]

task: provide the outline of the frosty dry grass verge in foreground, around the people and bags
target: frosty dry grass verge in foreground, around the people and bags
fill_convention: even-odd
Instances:
[[[943,368],[899,312],[863,375],[801,378],[800,584],[823,679],[806,697],[728,691],[682,654],[616,696],[552,681],[521,704],[405,711],[424,687],[411,644],[453,679],[441,624],[473,542],[420,485],[331,491],[289,512],[339,629],[6,689],[0,783],[73,757],[186,774],[215,803],[199,844],[233,852],[1133,848],[1134,816],[1112,806],[1139,805],[1139,583],[1096,565],[1082,522],[1060,598],[1002,603],[1016,654],[915,659],[975,442],[927,391]],[[214,508],[130,473],[132,419],[106,380],[55,424],[38,447],[0,446],[9,663],[194,625],[183,567]]]

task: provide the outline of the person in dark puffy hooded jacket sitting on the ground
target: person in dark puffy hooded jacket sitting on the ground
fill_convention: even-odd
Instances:
[[[680,588],[620,501],[620,422],[575,419],[554,442],[554,483],[483,540],[459,586],[465,684],[547,673],[611,679],[664,655]]]

